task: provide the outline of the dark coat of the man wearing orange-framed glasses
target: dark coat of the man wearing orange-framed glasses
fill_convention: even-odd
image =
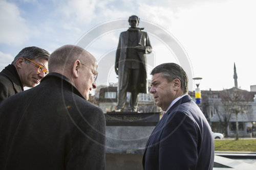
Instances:
[[[0,102],[23,91],[23,86],[14,65],[9,64],[0,72]]]

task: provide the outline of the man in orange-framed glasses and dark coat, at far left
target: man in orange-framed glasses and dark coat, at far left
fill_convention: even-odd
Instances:
[[[24,87],[34,87],[48,73],[46,50],[30,46],[20,51],[12,64],[0,72],[0,102],[9,96],[24,91]]]

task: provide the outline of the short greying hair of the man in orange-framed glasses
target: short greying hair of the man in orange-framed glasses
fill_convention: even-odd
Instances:
[[[22,58],[27,58],[30,60],[33,59],[46,59],[48,61],[50,56],[50,53],[42,48],[36,47],[36,46],[29,46],[29,47],[25,47],[23,48],[22,51],[20,51],[16,57],[14,58],[14,60],[12,61],[12,64],[16,64],[16,61],[18,60],[18,58],[22,57]],[[25,60],[26,62],[29,62],[27,60]]]

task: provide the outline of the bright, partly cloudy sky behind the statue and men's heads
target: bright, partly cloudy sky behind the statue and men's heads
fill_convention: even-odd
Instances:
[[[162,62],[186,62],[190,84],[202,77],[201,90],[222,90],[234,86],[235,62],[238,86],[249,91],[256,85],[255,7],[254,0],[0,0],[0,70],[26,46],[51,53],[90,40],[81,46],[99,62],[98,85],[115,83],[119,35],[129,28],[129,16],[137,15],[153,47],[148,72]]]

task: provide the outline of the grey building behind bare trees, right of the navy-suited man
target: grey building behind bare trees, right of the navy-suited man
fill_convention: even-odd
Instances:
[[[195,100],[195,92],[189,92],[189,95]],[[198,106],[207,118],[212,131],[233,136],[236,134],[238,118],[239,135],[250,135],[249,129],[254,130],[255,135],[256,91],[233,87],[221,91],[202,90],[201,95],[202,103]]]

